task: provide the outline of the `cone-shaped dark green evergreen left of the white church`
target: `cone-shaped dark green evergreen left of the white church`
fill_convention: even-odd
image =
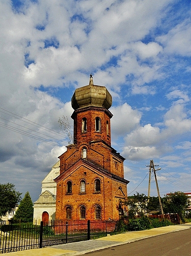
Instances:
[[[33,220],[33,203],[30,197],[29,192],[27,192],[21,201],[14,217],[14,221],[19,221],[23,223],[32,222]]]

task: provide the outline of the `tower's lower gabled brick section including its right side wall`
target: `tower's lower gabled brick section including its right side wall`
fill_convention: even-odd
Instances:
[[[81,219],[82,206],[85,218],[95,219],[95,205],[100,207],[103,219],[116,219],[119,202],[127,198],[127,180],[83,159],[61,173],[55,182],[56,217],[62,220],[67,220],[68,209],[71,219]]]

